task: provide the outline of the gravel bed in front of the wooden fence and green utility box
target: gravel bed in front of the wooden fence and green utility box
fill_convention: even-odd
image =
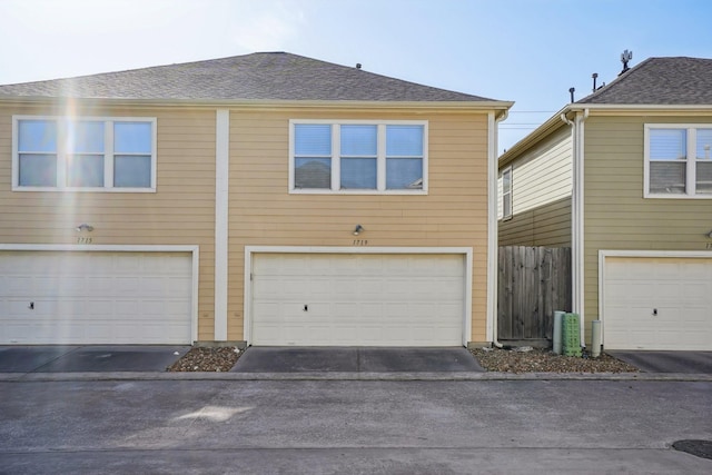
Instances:
[[[532,348],[526,352],[500,348],[469,350],[488,372],[500,373],[637,373],[635,366],[602,353],[597,358],[556,355],[551,349]]]

